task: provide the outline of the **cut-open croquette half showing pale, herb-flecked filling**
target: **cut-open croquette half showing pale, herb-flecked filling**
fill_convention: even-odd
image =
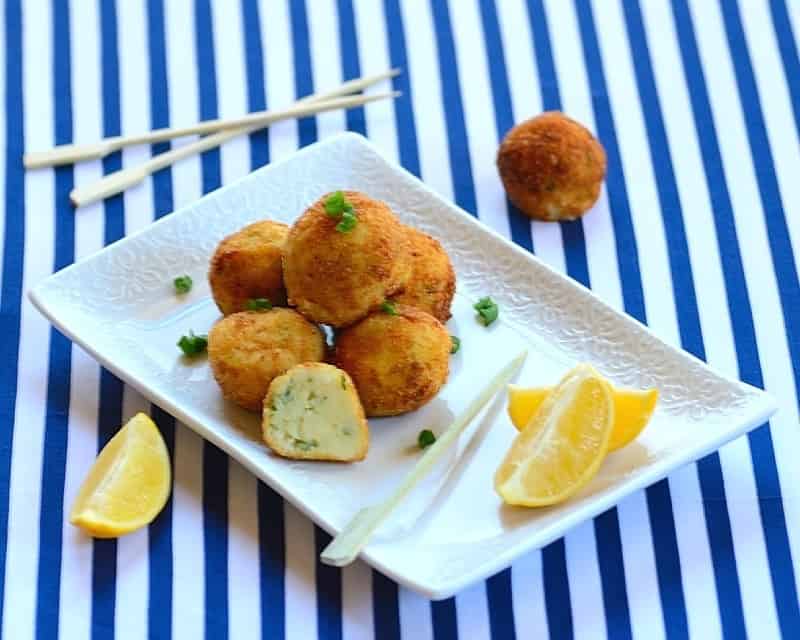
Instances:
[[[275,378],[264,398],[264,442],[297,460],[363,460],[369,447],[364,408],[353,381],[330,364],[311,362]]]

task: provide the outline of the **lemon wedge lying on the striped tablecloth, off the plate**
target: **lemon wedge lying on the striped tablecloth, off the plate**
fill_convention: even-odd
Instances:
[[[161,432],[137,413],[108,441],[83,481],[69,520],[95,538],[150,524],[169,497],[169,453]]]

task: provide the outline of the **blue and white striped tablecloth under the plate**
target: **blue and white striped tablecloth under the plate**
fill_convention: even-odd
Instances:
[[[798,637],[800,2],[0,0],[0,620],[4,638]],[[403,97],[286,122],[73,211],[168,148],[25,173],[23,149],[279,106],[399,66]],[[377,88],[376,90],[384,90]],[[494,166],[515,122],[596,131],[596,209],[531,224]],[[769,425],[455,598],[364,564],[54,331],[25,291],[272,159],[369,136],[498,232],[724,373]],[[149,528],[65,523],[99,446],[151,411],[175,488]]]

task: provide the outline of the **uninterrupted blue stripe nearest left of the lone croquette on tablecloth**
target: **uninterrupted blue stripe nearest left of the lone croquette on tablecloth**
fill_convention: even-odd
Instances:
[[[478,204],[475,199],[475,184],[472,180],[472,161],[469,155],[467,127],[464,122],[464,106],[456,72],[458,61],[456,60],[453,29],[450,25],[447,3],[432,2],[431,13],[436,32],[453,193],[459,207],[469,211],[473,216],[477,216]]]

